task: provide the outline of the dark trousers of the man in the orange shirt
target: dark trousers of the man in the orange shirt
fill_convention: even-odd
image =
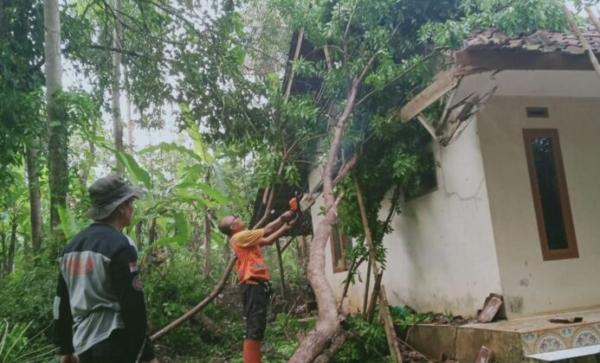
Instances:
[[[262,340],[267,327],[267,307],[271,285],[269,282],[242,284],[242,303],[246,318],[246,339]]]

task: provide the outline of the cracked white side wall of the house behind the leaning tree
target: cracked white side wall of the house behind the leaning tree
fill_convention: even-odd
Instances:
[[[383,277],[392,305],[468,316],[490,292],[502,292],[476,126],[471,123],[454,144],[436,148],[438,190],[407,202],[393,219],[394,232],[384,239]],[[311,174],[311,186],[319,173]],[[320,198],[312,208],[315,228],[321,206]],[[389,201],[381,219],[388,208]],[[332,272],[330,246],[326,256],[326,273],[339,297],[346,274]],[[350,291],[351,310],[360,309],[363,294],[361,283]]]

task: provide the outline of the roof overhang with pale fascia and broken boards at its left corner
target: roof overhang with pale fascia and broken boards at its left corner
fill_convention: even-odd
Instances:
[[[537,46],[537,45],[536,45]],[[592,74],[593,73],[593,74]],[[450,93],[434,127],[423,111]],[[526,46],[468,46],[454,53],[454,64],[399,111],[401,122],[416,118],[442,145],[493,95],[598,97],[600,79],[581,49],[528,50]]]

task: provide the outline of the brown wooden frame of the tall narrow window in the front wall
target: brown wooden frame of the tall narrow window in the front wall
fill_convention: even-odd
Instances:
[[[552,139],[553,158],[556,165],[556,178],[558,182],[559,200],[567,238],[567,248],[550,249],[548,244],[548,235],[544,223],[544,211],[542,199],[539,190],[538,177],[533,161],[533,150],[531,148],[531,139],[535,137],[550,137]],[[525,142],[525,154],[527,155],[527,168],[529,170],[529,181],[531,183],[531,192],[533,195],[533,204],[542,247],[544,261],[562,260],[569,258],[578,258],[577,239],[575,237],[575,227],[573,225],[573,215],[571,213],[571,203],[567,188],[567,179],[560,149],[560,139],[557,129],[523,129],[523,140]]]

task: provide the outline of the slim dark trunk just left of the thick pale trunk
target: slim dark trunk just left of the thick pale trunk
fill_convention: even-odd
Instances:
[[[26,147],[27,185],[29,188],[29,208],[31,210],[31,249],[36,254],[40,251],[43,238],[42,202],[39,179],[39,139],[34,137]]]

